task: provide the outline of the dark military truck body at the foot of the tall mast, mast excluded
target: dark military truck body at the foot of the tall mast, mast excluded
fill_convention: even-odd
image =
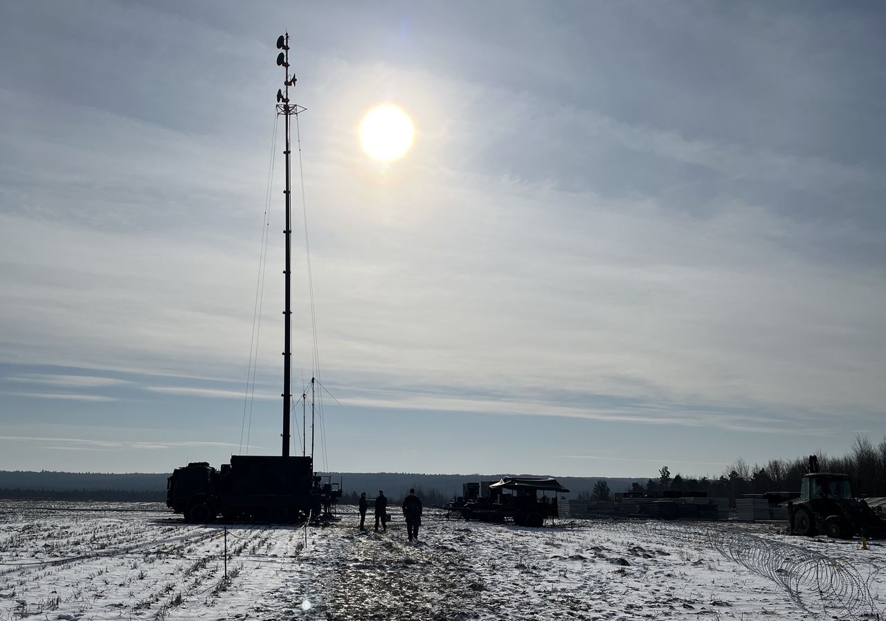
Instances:
[[[323,485],[310,457],[233,455],[219,470],[190,462],[167,479],[167,507],[184,519],[206,524],[259,521],[292,524],[329,513],[340,485]]]

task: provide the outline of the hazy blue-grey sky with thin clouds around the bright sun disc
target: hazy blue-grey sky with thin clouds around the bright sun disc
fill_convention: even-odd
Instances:
[[[866,2],[0,4],[0,469],[281,451],[284,30],[319,470],[719,476],[878,443],[884,27]],[[383,103],[416,128],[390,163],[357,136]]]

